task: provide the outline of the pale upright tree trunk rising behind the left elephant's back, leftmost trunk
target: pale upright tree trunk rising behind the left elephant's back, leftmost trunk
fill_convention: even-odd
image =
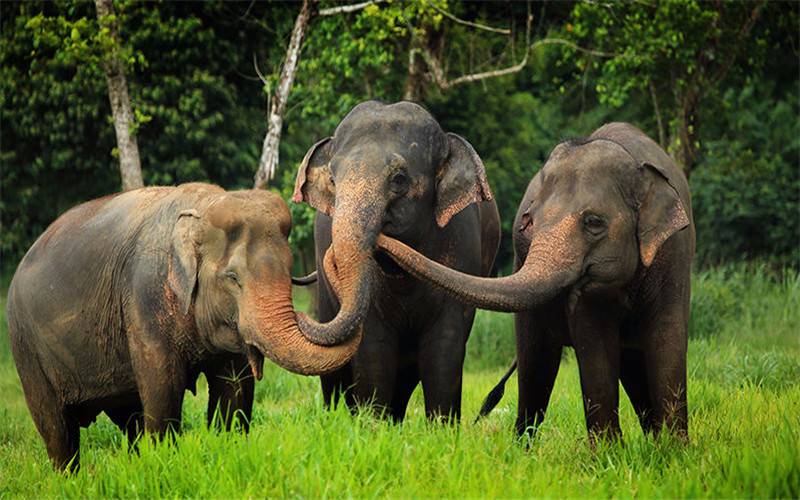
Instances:
[[[128,96],[128,83],[125,70],[119,58],[119,30],[114,17],[112,0],[95,0],[97,19],[102,27],[109,30],[113,40],[112,50],[105,54],[103,70],[108,83],[108,99],[111,102],[111,113],[114,117],[114,130],[117,134],[117,150],[119,151],[119,171],[122,177],[122,190],[137,189],[144,186],[142,166],[139,160],[139,145],[133,134],[133,111]]]

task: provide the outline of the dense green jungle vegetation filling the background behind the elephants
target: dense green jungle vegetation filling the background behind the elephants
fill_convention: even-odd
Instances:
[[[299,7],[117,2],[146,185],[252,186]],[[288,200],[305,151],[356,103],[411,96],[486,164],[503,221],[505,272],[517,204],[554,144],[624,120],[659,140],[689,175],[699,264],[762,259],[796,267],[799,19],[792,2],[696,1],[431,0],[316,17],[270,188]],[[117,191],[120,178],[93,5],[4,2],[0,23],[0,250],[8,272],[58,214]],[[450,81],[526,64],[443,86],[436,65],[410,62],[423,53]],[[313,267],[313,211],[293,205],[292,212],[301,272]]]

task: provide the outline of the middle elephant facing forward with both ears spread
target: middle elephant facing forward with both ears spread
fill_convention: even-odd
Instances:
[[[420,282],[384,255],[381,232],[431,258],[487,276],[500,219],[478,154],[416,103],[356,105],[298,168],[293,200],[317,210],[317,311],[336,325],[363,321],[345,366],[323,375],[327,406],[344,395],[402,421],[421,382],[428,418],[455,421],[473,307]],[[334,285],[343,293],[336,294]],[[355,320],[354,320],[355,318]]]

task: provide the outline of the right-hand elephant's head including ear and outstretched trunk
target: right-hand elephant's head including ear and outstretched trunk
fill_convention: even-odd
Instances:
[[[518,270],[469,276],[381,236],[378,245],[415,276],[466,303],[523,311],[567,290],[613,292],[690,224],[688,188],[652,140],[627,124],[566,141],[528,186],[514,223]],[[680,187],[676,187],[680,186]]]

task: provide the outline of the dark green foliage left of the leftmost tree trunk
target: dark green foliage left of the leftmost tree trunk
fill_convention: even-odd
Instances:
[[[96,61],[86,41],[93,5],[80,5],[75,22],[62,7],[2,5],[0,252],[13,260],[56,214],[119,184],[111,159],[96,154],[114,143],[105,77],[96,63],[77,64]]]

